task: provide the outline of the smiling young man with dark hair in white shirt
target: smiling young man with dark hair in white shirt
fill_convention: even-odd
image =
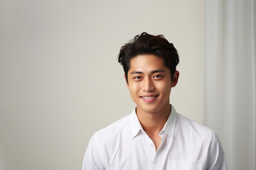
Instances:
[[[142,33],[122,46],[118,62],[137,107],[92,136],[82,170],[227,169],[213,130],[169,103],[179,76],[173,44],[163,35]]]

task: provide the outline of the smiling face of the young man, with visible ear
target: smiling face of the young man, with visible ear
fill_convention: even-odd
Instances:
[[[137,113],[160,113],[169,109],[171,87],[178,81],[178,72],[171,82],[170,69],[155,55],[138,55],[130,61],[127,88],[137,104]]]

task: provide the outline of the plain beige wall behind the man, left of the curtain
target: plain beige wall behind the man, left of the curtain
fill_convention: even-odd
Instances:
[[[80,169],[93,132],[131,113],[116,57],[142,31],[181,62],[171,103],[201,123],[203,1],[1,1],[0,169]]]

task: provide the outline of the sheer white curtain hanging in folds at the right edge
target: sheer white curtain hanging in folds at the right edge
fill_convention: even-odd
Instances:
[[[204,1],[203,121],[232,170],[256,169],[255,5]]]

